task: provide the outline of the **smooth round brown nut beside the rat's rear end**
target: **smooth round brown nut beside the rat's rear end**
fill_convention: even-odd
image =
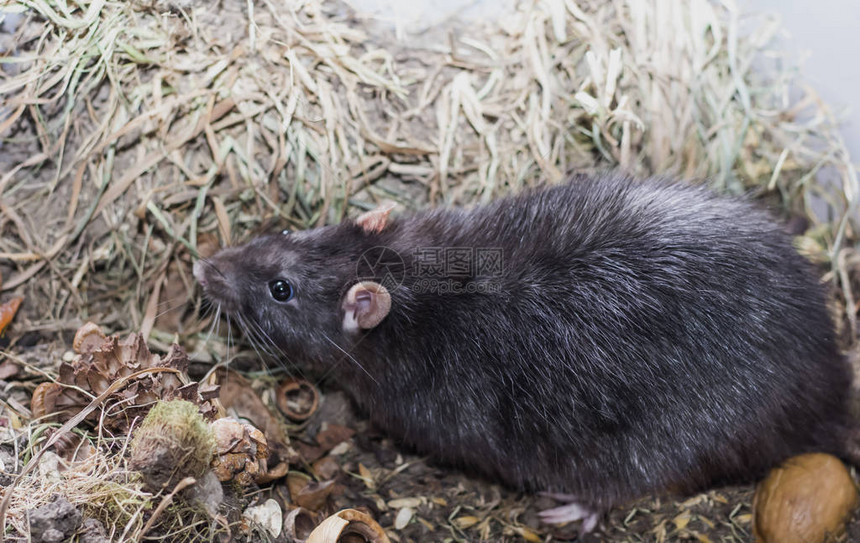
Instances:
[[[757,543],[830,543],[857,504],[854,480],[838,458],[803,454],[771,470],[756,487]]]

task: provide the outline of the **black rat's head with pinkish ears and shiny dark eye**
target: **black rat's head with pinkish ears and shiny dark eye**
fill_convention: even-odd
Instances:
[[[390,210],[341,226],[260,236],[195,262],[194,277],[252,340],[299,358],[325,358],[334,343],[374,328],[388,314],[388,291],[358,281],[355,262]]]

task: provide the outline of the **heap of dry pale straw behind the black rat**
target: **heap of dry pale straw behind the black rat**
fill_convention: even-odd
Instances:
[[[26,295],[16,336],[94,320],[193,347],[209,321],[192,259],[270,219],[469,205],[622,168],[805,218],[799,247],[854,345],[857,176],[833,115],[772,45],[774,20],[730,2],[543,0],[423,46],[336,2],[213,6],[0,8],[0,272]],[[218,341],[198,358],[218,359]]]

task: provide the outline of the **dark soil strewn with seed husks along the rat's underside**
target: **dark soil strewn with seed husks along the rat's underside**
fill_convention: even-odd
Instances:
[[[695,496],[646,497],[613,509],[595,532],[577,539],[575,524],[540,523],[537,512],[555,505],[549,498],[515,492],[408,452],[357,415],[342,392],[325,391],[322,405],[306,430],[293,439],[308,440],[308,434],[324,423],[356,430],[347,441],[349,448],[335,456],[342,491],[335,493],[325,511],[365,508],[384,528],[391,528],[400,510],[408,507],[411,521],[394,531],[403,543],[752,540],[752,484]],[[368,480],[360,473],[372,477]],[[537,539],[526,539],[529,532]],[[860,518],[855,515],[838,541],[860,541]]]

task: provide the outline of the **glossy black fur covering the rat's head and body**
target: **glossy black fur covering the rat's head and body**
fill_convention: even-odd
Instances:
[[[405,278],[381,324],[345,334],[342,296],[380,246]],[[504,273],[422,291],[414,251],[432,247],[501,248]],[[215,302],[336,364],[391,435],[519,488],[599,509],[845,452],[851,373],[815,273],[765,212],[705,188],[575,178],[379,233],[265,236],[210,264]],[[292,302],[272,299],[276,278]]]

